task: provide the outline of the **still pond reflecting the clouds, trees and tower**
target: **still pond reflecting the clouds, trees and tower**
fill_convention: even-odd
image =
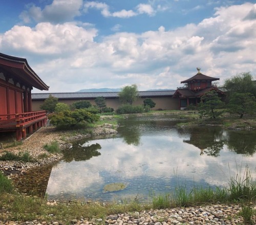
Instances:
[[[230,176],[243,176],[245,166],[256,178],[256,131],[178,129],[177,122],[170,116],[130,117],[119,121],[115,136],[79,140],[57,165],[40,168],[46,183],[38,182],[40,191],[49,199],[143,200],[181,185],[227,185]]]

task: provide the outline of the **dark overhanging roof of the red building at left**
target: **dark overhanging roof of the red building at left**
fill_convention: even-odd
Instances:
[[[48,90],[47,86],[38,75],[31,69],[28,62],[24,58],[8,56],[0,53],[0,72],[6,72],[16,78],[22,85],[35,87],[39,90]]]

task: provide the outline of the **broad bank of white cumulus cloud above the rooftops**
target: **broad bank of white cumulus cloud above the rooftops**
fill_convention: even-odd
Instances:
[[[86,4],[113,16],[106,4]],[[28,56],[53,92],[133,83],[140,90],[175,89],[194,76],[196,67],[220,82],[239,72],[254,75],[254,10],[255,4],[249,3],[221,7],[198,24],[173,30],[160,26],[140,34],[118,32],[97,41],[98,30],[91,24],[40,22],[34,28],[14,26],[0,34],[0,47],[7,54],[20,51]],[[117,24],[116,31],[119,28]]]

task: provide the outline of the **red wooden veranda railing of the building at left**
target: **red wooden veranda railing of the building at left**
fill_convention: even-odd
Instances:
[[[7,128],[8,126],[16,128],[24,127],[42,118],[46,118],[46,111],[0,115],[0,128]]]

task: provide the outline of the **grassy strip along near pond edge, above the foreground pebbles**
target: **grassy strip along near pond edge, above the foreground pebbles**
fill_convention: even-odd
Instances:
[[[230,178],[229,185],[223,188],[193,187],[188,193],[185,187],[176,188],[175,193],[164,195],[153,195],[152,201],[140,203],[135,197],[131,201],[122,204],[111,203],[88,203],[86,201],[74,201],[63,203],[49,203],[46,198],[36,196],[25,196],[15,192],[9,179],[0,173],[0,221],[60,221],[70,224],[74,218],[104,218],[110,214],[124,212],[139,212],[149,209],[166,209],[173,207],[189,207],[204,204],[240,204],[240,215],[244,221],[250,223],[250,218],[256,215],[252,208],[255,204],[256,182],[252,179],[250,172],[238,174]],[[103,222],[104,223],[104,222]]]

